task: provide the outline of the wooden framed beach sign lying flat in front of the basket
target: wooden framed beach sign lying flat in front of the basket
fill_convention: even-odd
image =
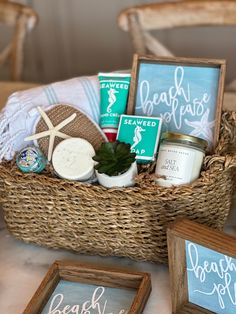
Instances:
[[[139,314],[150,292],[148,273],[56,261],[23,314]]]

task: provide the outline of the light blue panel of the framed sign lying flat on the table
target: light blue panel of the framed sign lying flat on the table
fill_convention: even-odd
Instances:
[[[136,292],[61,280],[41,314],[128,314]]]

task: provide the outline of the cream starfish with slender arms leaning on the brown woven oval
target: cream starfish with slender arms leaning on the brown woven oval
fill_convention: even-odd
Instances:
[[[58,125],[53,126],[53,124],[52,124],[51,120],[49,119],[49,117],[47,116],[47,114],[40,107],[37,107],[37,109],[38,109],[38,112],[40,113],[41,117],[43,118],[43,120],[47,124],[48,130],[37,133],[37,134],[33,134],[31,136],[28,136],[24,139],[24,141],[38,140],[39,138],[49,136],[48,160],[50,161],[52,158],[52,150],[53,150],[53,146],[54,146],[55,137],[58,136],[58,137],[64,138],[64,139],[71,137],[65,133],[60,132],[59,130],[62,129],[67,124],[69,124],[71,121],[73,121],[76,117],[76,113],[73,113],[71,116],[69,116],[68,118],[66,118],[62,122],[60,122]]]

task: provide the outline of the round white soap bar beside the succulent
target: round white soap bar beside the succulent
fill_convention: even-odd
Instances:
[[[52,165],[63,179],[86,181],[94,173],[93,146],[82,138],[69,138],[54,149]]]

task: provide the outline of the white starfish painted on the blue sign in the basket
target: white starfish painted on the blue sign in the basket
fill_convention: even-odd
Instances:
[[[194,128],[194,130],[190,133],[190,135],[197,136],[197,137],[199,135],[203,135],[205,139],[212,142],[213,141],[212,128],[215,125],[215,120],[211,122],[208,121],[209,113],[210,113],[210,110],[209,108],[207,108],[207,110],[205,111],[200,121],[188,121],[187,119],[185,119],[184,121],[188,126],[191,126],[192,128]]]

